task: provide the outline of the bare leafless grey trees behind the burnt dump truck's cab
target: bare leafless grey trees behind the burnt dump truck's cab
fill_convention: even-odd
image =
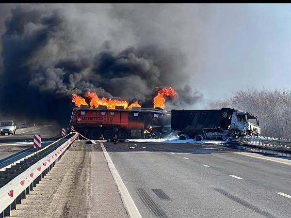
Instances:
[[[209,106],[253,113],[259,118],[261,136],[291,138],[291,90],[240,90],[223,100],[210,101]]]

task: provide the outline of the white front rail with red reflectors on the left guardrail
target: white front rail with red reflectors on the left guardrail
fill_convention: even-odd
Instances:
[[[44,171],[46,171],[57,157],[65,152],[66,148],[78,137],[78,134],[74,134],[65,143],[60,145],[57,149],[51,152],[49,155],[45,156],[27,170],[17,175],[13,180],[11,180],[4,187],[0,188],[0,215],[4,210],[16,201],[16,198],[29,187],[34,180],[37,179]],[[62,140],[62,139],[60,139]],[[57,140],[59,141],[59,140]],[[54,143],[56,143],[55,141]],[[46,147],[47,148],[47,147]],[[46,149],[44,148],[44,149]],[[35,154],[35,153],[34,153]]]

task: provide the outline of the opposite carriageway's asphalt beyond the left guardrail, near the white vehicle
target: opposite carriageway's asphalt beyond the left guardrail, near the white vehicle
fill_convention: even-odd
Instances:
[[[0,136],[0,169],[35,152],[32,144],[34,134],[41,134],[44,148],[60,138],[60,128],[52,125],[35,126],[16,130],[16,135]]]

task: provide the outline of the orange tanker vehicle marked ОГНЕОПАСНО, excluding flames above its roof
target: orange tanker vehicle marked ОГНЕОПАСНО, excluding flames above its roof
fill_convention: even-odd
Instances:
[[[149,138],[153,131],[162,137],[171,131],[171,113],[140,107],[81,107],[73,109],[69,128],[71,126],[91,140]]]

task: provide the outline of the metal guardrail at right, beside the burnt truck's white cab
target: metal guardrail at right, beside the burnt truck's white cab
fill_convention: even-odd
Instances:
[[[244,138],[242,143],[256,145],[264,148],[291,151],[291,140],[272,140],[263,138]]]

